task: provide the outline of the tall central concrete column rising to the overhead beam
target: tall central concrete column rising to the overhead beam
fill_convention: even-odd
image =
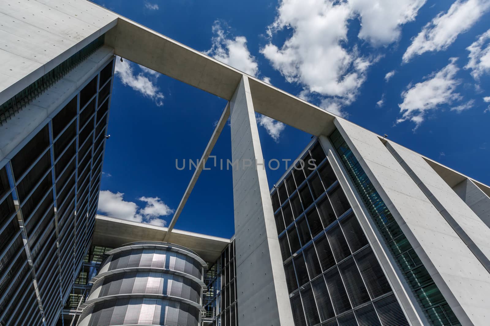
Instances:
[[[294,326],[259,131],[245,75],[230,101],[230,119],[231,157],[238,162],[233,167],[233,205],[239,324]]]

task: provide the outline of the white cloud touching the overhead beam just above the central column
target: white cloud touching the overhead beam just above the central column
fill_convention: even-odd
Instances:
[[[218,21],[214,22],[213,33],[215,36],[211,40],[211,48],[204,51],[204,54],[251,76],[258,76],[259,65],[255,57],[248,51],[245,36],[228,39],[228,32],[221,27]]]

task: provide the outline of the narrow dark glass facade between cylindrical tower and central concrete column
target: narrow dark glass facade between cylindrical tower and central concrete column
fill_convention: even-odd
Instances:
[[[203,326],[238,326],[234,239],[209,266],[204,277],[208,289],[203,296]]]

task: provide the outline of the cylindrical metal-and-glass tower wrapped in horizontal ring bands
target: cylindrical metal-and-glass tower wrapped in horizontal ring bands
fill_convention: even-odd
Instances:
[[[193,251],[167,242],[132,242],[108,255],[78,326],[200,325],[206,263]]]

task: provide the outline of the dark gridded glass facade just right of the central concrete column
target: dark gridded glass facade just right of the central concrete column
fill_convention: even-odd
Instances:
[[[318,141],[271,191],[294,325],[409,325]]]

